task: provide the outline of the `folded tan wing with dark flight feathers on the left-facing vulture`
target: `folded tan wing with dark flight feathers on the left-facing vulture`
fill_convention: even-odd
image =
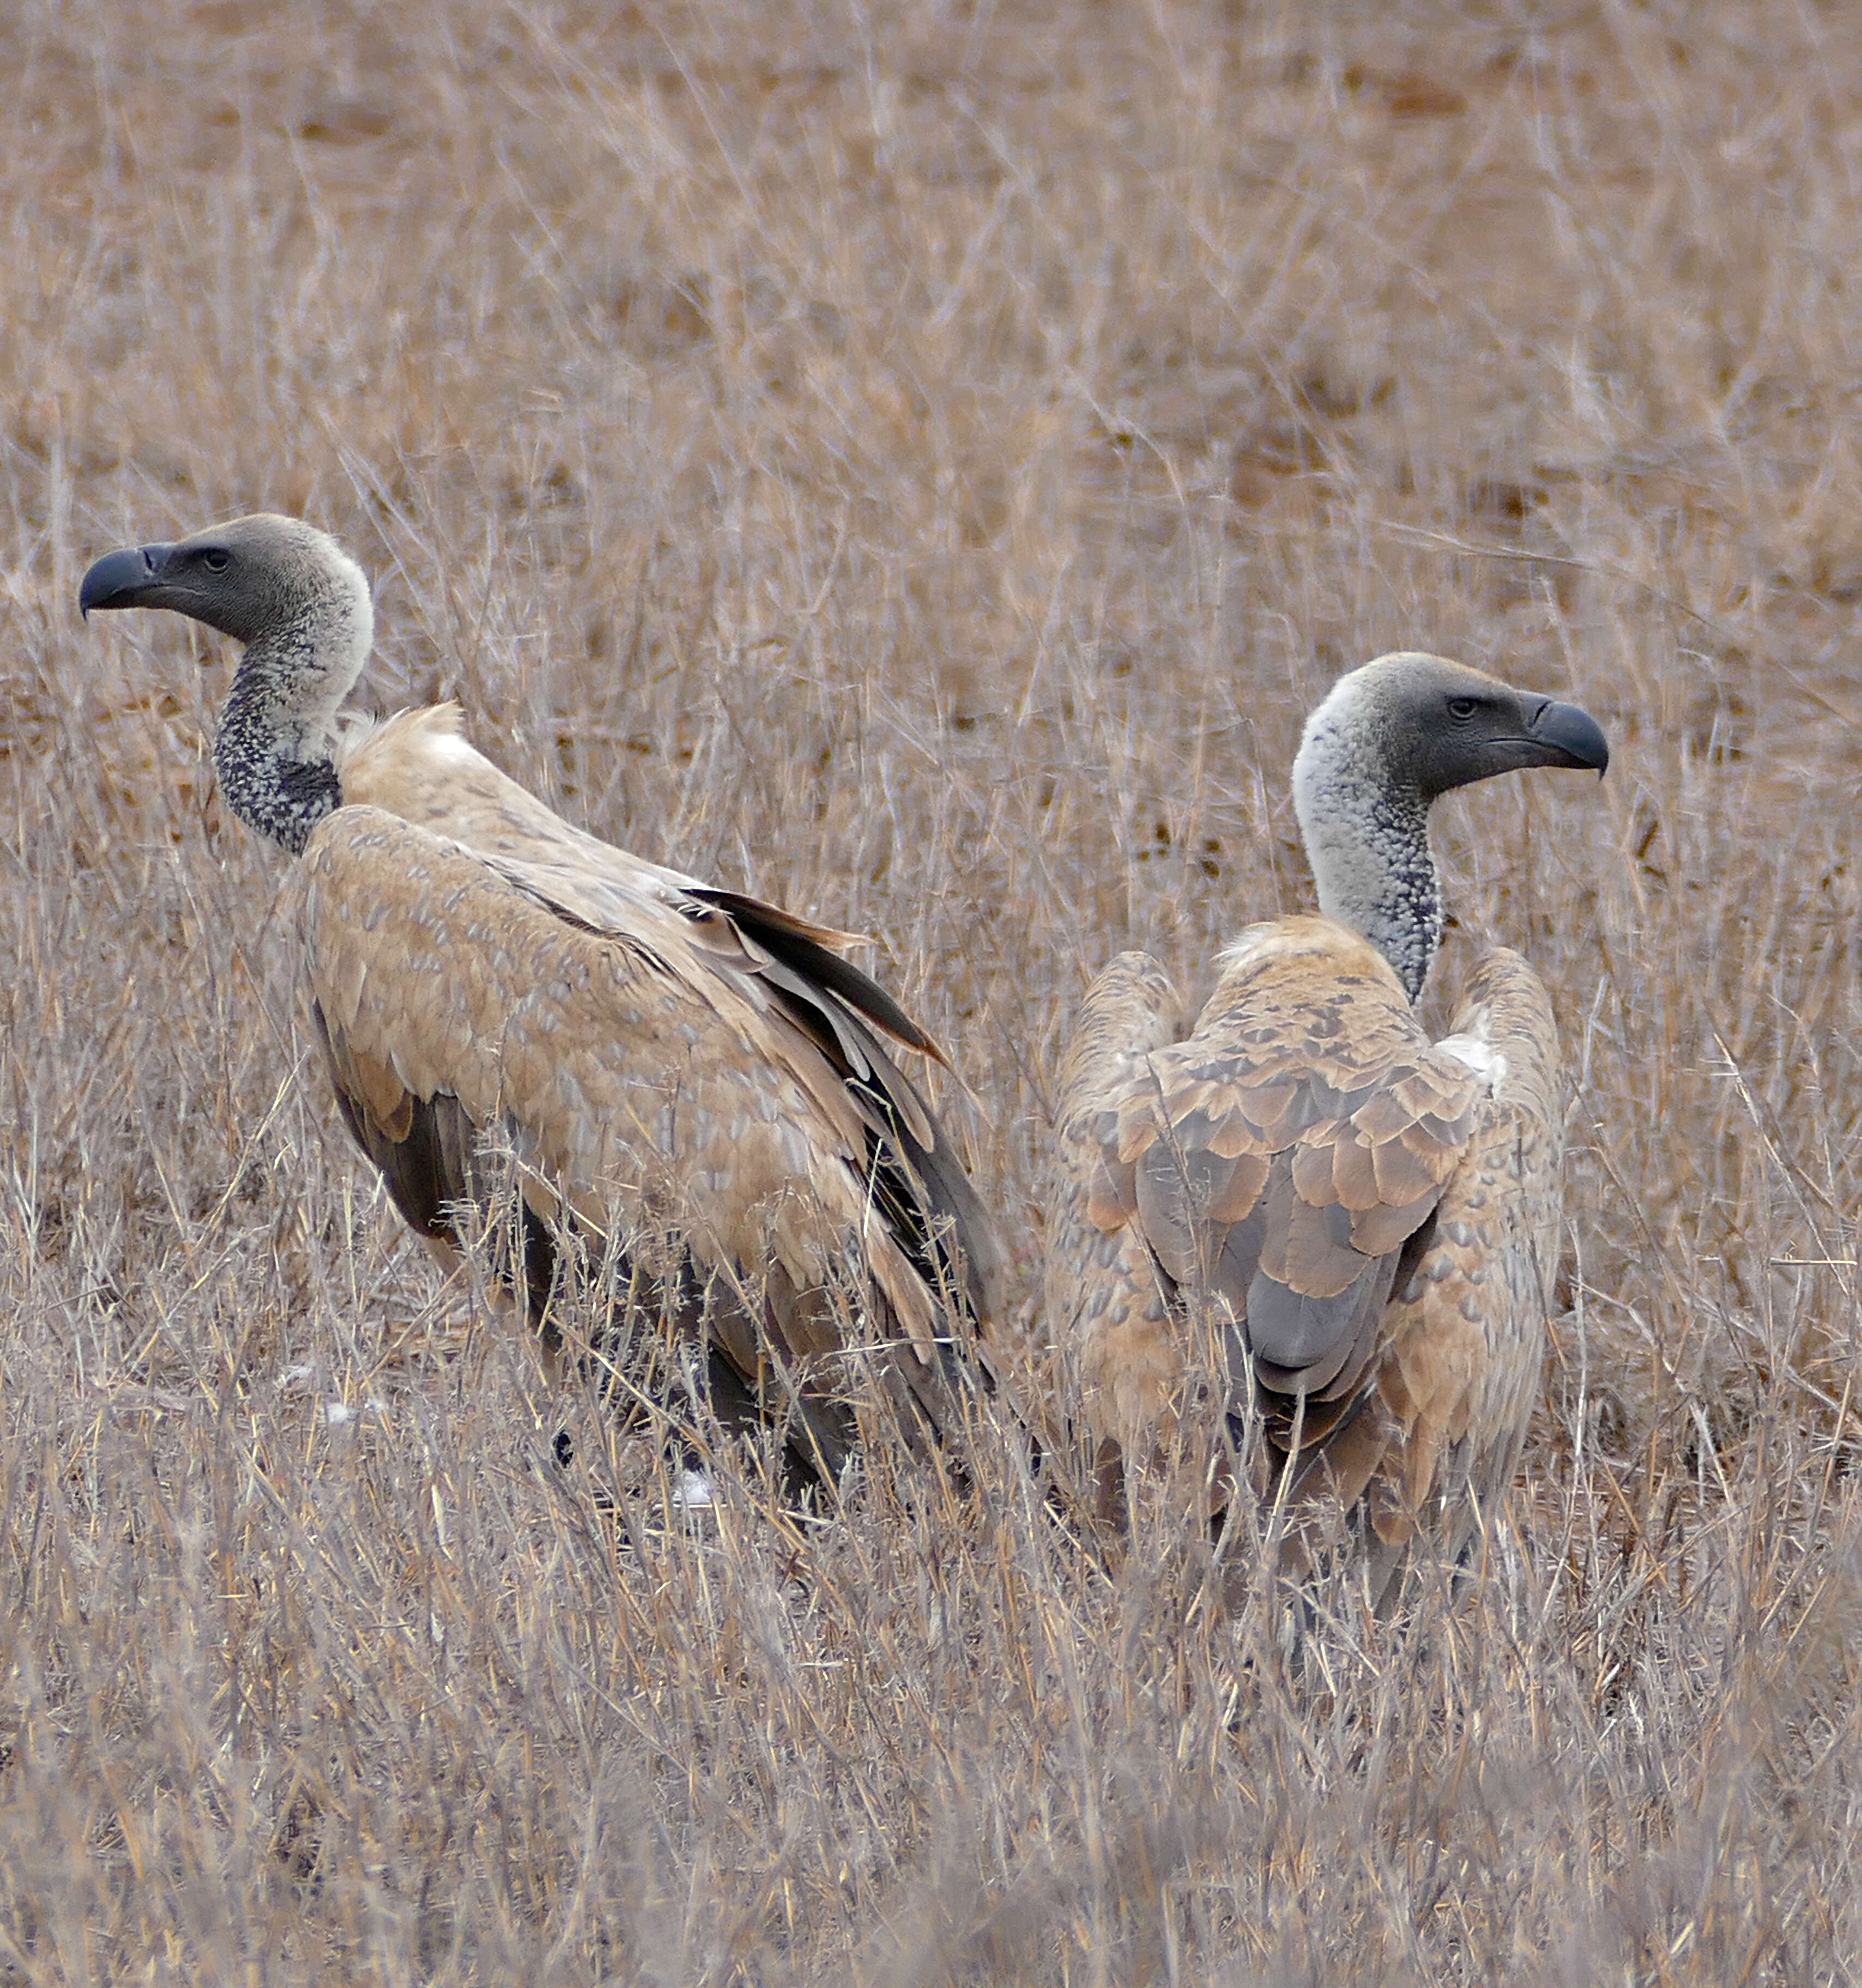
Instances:
[[[402,1215],[444,1241],[483,1199],[473,1155],[497,1133],[519,1163],[535,1302],[565,1215],[676,1231],[702,1284],[766,1286],[760,1318],[710,1304],[712,1338],[752,1390],[768,1354],[800,1378],[834,1467],[851,1431],[824,1408],[847,1352],[828,1292],[851,1262],[873,1338],[897,1340],[887,1388],[941,1427],[953,1334],[989,1316],[997,1244],[877,1030],[923,1038],[830,950],[838,934],[593,839],[543,855],[511,841],[469,849],[352,805],[304,851],[318,1028]]]

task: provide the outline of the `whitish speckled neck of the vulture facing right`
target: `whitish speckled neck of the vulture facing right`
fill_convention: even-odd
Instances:
[[[1414,1002],[1442,942],[1430,795],[1391,765],[1371,712],[1333,702],[1313,712],[1293,761],[1293,811],[1319,909],[1369,938]]]

